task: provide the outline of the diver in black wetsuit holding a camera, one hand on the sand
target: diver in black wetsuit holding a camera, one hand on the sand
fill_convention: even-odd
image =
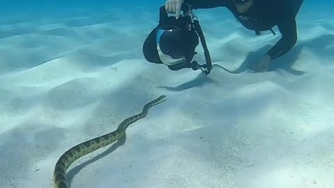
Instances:
[[[164,7],[179,19],[184,3],[193,9],[228,8],[243,26],[257,35],[268,30],[275,35],[272,28],[278,26],[282,38],[257,63],[258,72],[266,71],[273,59],[283,56],[296,44],[296,15],[303,0],[166,0]]]

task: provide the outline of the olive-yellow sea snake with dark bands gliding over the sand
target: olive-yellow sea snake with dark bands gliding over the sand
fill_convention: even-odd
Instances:
[[[67,150],[63,155],[61,155],[56,163],[56,166],[54,167],[54,188],[67,188],[66,170],[75,160],[90,152],[107,146],[118,139],[122,139],[125,135],[125,130],[130,124],[134,123],[136,120],[144,118],[146,114],[148,114],[148,109],[156,104],[159,104],[160,102],[163,102],[165,97],[166,95],[161,95],[156,100],[145,104],[141,113],[123,120],[122,123],[118,125],[117,130],[98,136],[95,139],[79,143],[77,146]]]

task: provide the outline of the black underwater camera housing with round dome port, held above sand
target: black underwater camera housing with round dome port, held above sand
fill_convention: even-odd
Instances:
[[[209,75],[212,62],[197,17],[189,4],[182,4],[183,14],[179,19],[168,16],[165,6],[159,9],[159,24],[155,27],[143,44],[145,59],[151,63],[165,64],[170,70],[192,68],[202,70],[203,75]],[[204,49],[206,63],[198,64],[192,61],[199,40]]]

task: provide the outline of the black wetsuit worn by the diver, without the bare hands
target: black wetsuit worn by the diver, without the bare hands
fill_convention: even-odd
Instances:
[[[267,54],[271,59],[289,52],[296,44],[296,15],[303,0],[254,0],[246,13],[239,13],[232,0],[184,0],[193,9],[228,8],[242,25],[254,31],[267,31],[278,26],[282,38]]]

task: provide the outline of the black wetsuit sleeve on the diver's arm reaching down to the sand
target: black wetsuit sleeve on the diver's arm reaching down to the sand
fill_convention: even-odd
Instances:
[[[278,23],[282,38],[267,52],[271,59],[278,58],[289,52],[297,41],[296,17],[293,13],[287,13],[286,10],[283,13],[286,16],[282,17],[280,23]]]

